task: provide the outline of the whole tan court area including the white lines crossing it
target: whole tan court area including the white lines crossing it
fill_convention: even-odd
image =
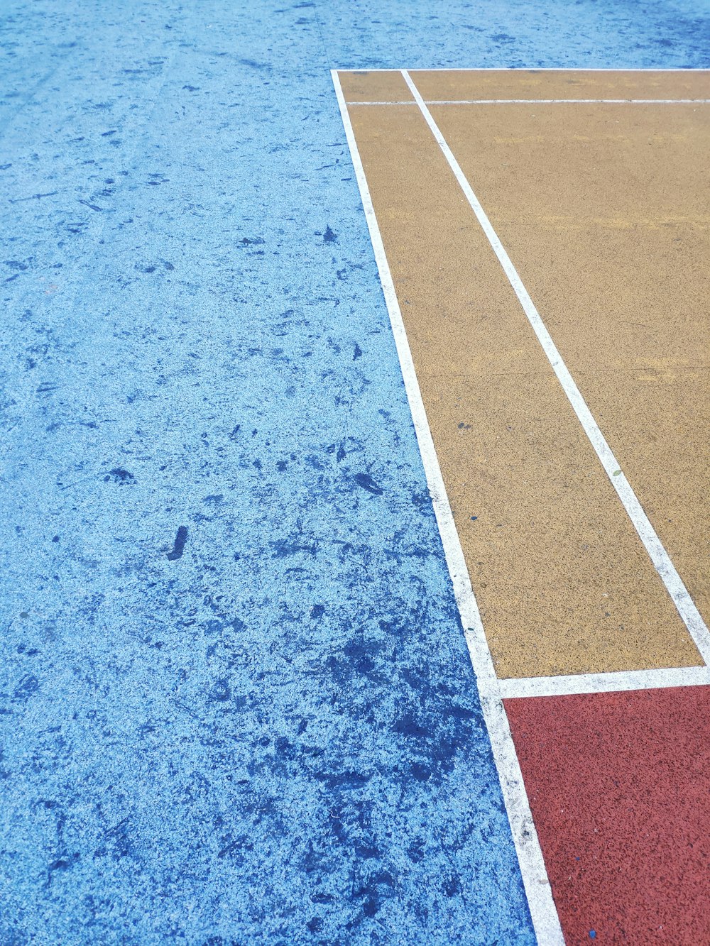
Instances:
[[[339,78],[496,673],[702,666],[710,74]]]

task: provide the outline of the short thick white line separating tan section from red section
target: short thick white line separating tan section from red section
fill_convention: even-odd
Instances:
[[[669,670],[625,670],[611,674],[529,676],[500,680],[504,700],[521,696],[572,696],[575,693],[612,693],[624,690],[661,690],[668,687],[710,686],[710,667],[674,667]]]

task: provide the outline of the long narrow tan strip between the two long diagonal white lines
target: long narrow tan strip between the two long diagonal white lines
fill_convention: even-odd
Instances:
[[[701,664],[421,114],[350,116],[498,674]]]

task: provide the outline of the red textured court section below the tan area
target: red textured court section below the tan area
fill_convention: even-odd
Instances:
[[[566,941],[710,943],[710,688],[506,711]]]

